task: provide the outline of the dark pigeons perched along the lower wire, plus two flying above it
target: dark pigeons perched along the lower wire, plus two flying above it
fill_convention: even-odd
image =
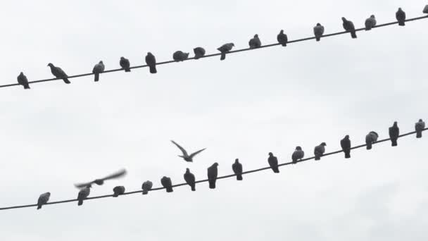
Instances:
[[[415,132],[416,137],[421,138],[422,137],[422,131],[425,129],[425,123],[420,119],[415,123]],[[398,128],[397,122],[394,122],[394,124],[389,128],[389,138],[391,139],[391,146],[396,147],[398,145],[398,137],[400,135],[400,128]],[[365,136],[365,144],[366,149],[372,149],[372,143],[377,141],[377,138],[379,135],[377,132],[371,131]],[[189,154],[186,149],[180,146],[180,144],[177,144],[177,142],[174,142],[171,140],[173,144],[175,144],[176,147],[180,149],[182,152],[181,155],[179,155],[184,161],[187,162],[193,162],[194,157],[203,152],[205,149],[200,149],[197,152]],[[344,139],[340,141],[341,149],[345,154],[345,159],[351,158],[351,140],[349,139],[349,135],[346,135]],[[321,144],[317,145],[314,148],[314,154],[315,154],[315,161],[320,161],[323,154],[325,154],[325,147],[327,144],[325,142],[322,142]],[[269,157],[267,158],[267,163],[269,163],[270,168],[272,168],[272,171],[274,173],[279,173],[278,168],[278,159],[272,152],[269,152]],[[296,147],[293,154],[291,155],[292,163],[298,163],[299,160],[303,159],[305,156],[305,152],[303,152],[303,149],[301,147]],[[242,180],[242,164],[239,163],[239,159],[235,159],[234,163],[232,164],[232,171],[237,176],[237,180]],[[80,191],[77,194],[77,205],[80,206],[83,204],[84,199],[89,197],[89,194],[91,192],[92,185],[103,185],[104,181],[111,180],[115,178],[120,178],[126,174],[125,169],[118,171],[117,173],[113,173],[112,175],[108,175],[105,178],[100,178],[93,180],[89,183],[81,183],[81,184],[75,184],[75,187],[79,188]],[[218,178],[218,163],[215,162],[213,165],[208,167],[207,169],[207,177],[208,177],[208,183],[210,189],[215,189],[215,182]],[[189,168],[186,168],[186,172],[184,173],[184,180],[186,183],[191,187],[192,191],[196,191],[196,178],[193,173],[190,172]],[[163,176],[163,178],[160,179],[160,184],[165,188],[166,192],[173,192],[172,190],[172,181],[171,178],[168,178],[166,176]],[[142,194],[148,194],[149,191],[152,189],[153,183],[150,180],[147,180],[144,182],[141,186]],[[113,188],[113,197],[118,197],[121,194],[125,194],[125,187],[124,186],[117,186]],[[41,209],[44,204],[46,204],[49,201],[49,197],[51,196],[50,192],[46,192],[44,194],[41,194],[38,201],[37,201],[37,209]]]

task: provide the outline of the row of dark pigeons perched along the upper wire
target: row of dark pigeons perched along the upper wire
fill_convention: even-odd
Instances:
[[[428,5],[424,7],[423,13],[428,14]],[[398,8],[398,11],[396,12],[396,19],[398,21],[398,25],[401,25],[401,26],[405,25],[406,16],[403,9]],[[347,32],[350,32],[352,38],[354,39],[357,38],[357,35],[355,32],[355,26],[353,22],[351,20],[347,20],[346,18],[342,18],[342,21],[343,21],[344,30],[346,30]],[[365,20],[365,30],[371,30],[372,27],[375,27],[376,25],[377,25],[377,21],[374,15],[370,16],[370,18],[367,18]],[[324,32],[325,32],[325,27],[320,23],[317,23],[317,25],[313,27],[313,33],[315,35],[316,41],[320,41],[322,35],[324,35]],[[289,40],[288,40],[287,34],[284,33],[284,30],[281,30],[277,35],[277,42],[279,44],[282,44],[282,46],[286,47],[288,41]],[[250,49],[256,49],[261,47],[262,43],[258,35],[254,35],[254,37],[250,39],[250,41],[248,42],[248,45]],[[221,47],[219,47],[218,51],[220,51],[221,53],[220,60],[225,60],[226,54],[229,51],[231,51],[233,47],[234,47],[234,43],[226,43],[226,44],[223,44]],[[203,49],[203,47],[196,47],[193,49],[193,51],[194,51],[194,59],[202,58],[206,54],[206,51],[205,49]],[[184,51],[175,51],[174,54],[172,54],[172,58],[174,59],[174,61],[177,61],[177,62],[184,61],[187,58],[189,58],[189,53]],[[151,52],[148,52],[146,55],[146,64],[147,66],[149,66],[150,73],[154,74],[158,72],[156,70],[156,57],[153,54],[151,54]],[[130,65],[129,59],[125,57],[120,57],[119,65],[123,70],[125,70],[125,72],[131,71],[131,65]],[[65,84],[71,83],[70,80],[68,80],[68,75],[65,73],[65,71],[62,68],[58,66],[54,66],[53,63],[49,63],[48,66],[51,68],[51,73],[53,76],[55,76],[58,79],[62,79],[65,82]],[[92,70],[92,73],[94,74],[95,82],[99,81],[99,75],[104,72],[105,68],[106,67],[104,66],[103,61],[99,61],[99,63],[96,63],[96,65]],[[18,75],[18,84],[23,85],[24,89],[30,89],[30,84],[28,82],[28,79],[23,72],[21,72]]]

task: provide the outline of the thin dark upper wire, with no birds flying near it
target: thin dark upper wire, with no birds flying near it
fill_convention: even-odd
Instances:
[[[421,20],[421,19],[424,19],[424,18],[428,18],[428,16],[422,16],[422,17],[417,17],[417,18],[409,18],[409,19],[405,20],[405,22],[410,22],[410,21],[415,21],[415,20]],[[376,25],[376,26],[374,26],[372,28],[386,27],[386,26],[389,26],[389,25],[396,25],[397,23],[398,23],[397,21],[396,22],[391,22],[391,23],[384,23],[384,24],[381,24],[381,25]],[[359,32],[359,31],[363,31],[363,30],[365,30],[365,27],[355,29],[355,32]],[[346,33],[349,33],[349,32],[348,31],[334,32],[332,34],[322,35],[321,37],[322,38],[332,37],[332,36],[335,36],[335,35],[344,35]],[[296,43],[296,42],[303,42],[303,41],[308,41],[308,40],[312,40],[312,39],[315,39],[315,37],[306,37],[306,38],[303,38],[303,39],[291,40],[291,41],[287,42],[287,44]],[[263,49],[263,48],[268,48],[268,47],[274,47],[274,46],[277,46],[277,45],[281,45],[281,44],[279,44],[279,43],[276,43],[276,44],[266,44],[266,45],[260,46],[260,47],[258,47],[256,49]],[[229,51],[226,54],[234,54],[234,53],[238,53],[238,52],[250,51],[250,50],[256,50],[256,49],[249,49],[249,48],[247,48],[247,49],[237,49],[237,50]],[[218,53],[218,54],[208,54],[208,55],[205,55],[205,56],[201,56],[200,58],[210,58],[210,57],[214,57],[214,56],[220,56],[220,53]],[[194,57],[186,58],[184,61],[189,61],[191,59],[194,59]],[[175,63],[175,62],[176,61],[159,62],[159,63],[156,63],[156,66],[160,66],[160,65],[168,64],[168,63]],[[148,65],[132,66],[132,67],[130,67],[130,69],[134,69],[134,68],[146,68],[146,67],[148,67]],[[123,71],[123,70],[124,70],[123,68],[117,68],[117,69],[113,69],[113,70],[103,71],[103,73],[111,73],[111,72],[117,72],[117,71]],[[100,74],[102,74],[102,73],[100,73]],[[69,79],[70,78],[80,78],[80,77],[89,76],[89,75],[94,75],[94,74],[93,73],[85,73],[85,74],[80,74],[80,75],[71,75],[71,76],[68,76],[68,78]],[[48,81],[53,81],[53,80],[62,80],[62,78],[51,78],[51,79],[45,79],[45,80],[34,80],[34,81],[29,81],[28,83],[29,84],[34,84],[34,83],[48,82]],[[16,85],[20,85],[20,84],[15,83],[15,84],[9,84],[9,85],[0,85],[0,88],[11,87],[11,86],[16,86]]]

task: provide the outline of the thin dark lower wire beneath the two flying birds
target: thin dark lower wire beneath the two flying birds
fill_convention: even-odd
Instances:
[[[425,131],[425,130],[428,130],[428,128],[425,128],[425,129],[424,129],[424,130],[422,130],[422,131]],[[413,131],[413,132],[408,132],[408,133],[405,133],[405,134],[403,134],[403,135],[399,135],[398,137],[405,137],[405,136],[408,136],[408,135],[413,135],[413,134],[415,134],[415,133],[416,133],[415,131]],[[381,142],[386,142],[386,141],[389,141],[389,140],[391,140],[391,138],[387,138],[387,139],[384,139],[384,140],[378,140],[378,141],[376,141],[376,142],[372,142],[372,144],[377,144],[377,143],[381,143]],[[359,148],[366,147],[366,146],[367,146],[367,144],[360,144],[359,146],[351,147],[351,150],[352,150],[352,149],[359,149]],[[336,151],[336,152],[329,152],[329,153],[323,154],[322,156],[331,156],[331,155],[334,155],[334,154],[339,154],[339,153],[341,153],[341,152],[344,152],[344,151],[343,151],[343,150],[339,150],[339,151]],[[308,158],[306,158],[306,159],[301,159],[301,160],[299,160],[299,161],[297,161],[297,162],[310,161],[310,160],[312,160],[312,159],[315,159],[315,156],[308,157]],[[288,165],[291,165],[291,164],[293,164],[293,162],[280,163],[280,164],[278,164],[278,166],[288,166]],[[269,167],[264,167],[264,168],[254,169],[254,170],[251,170],[251,171],[244,171],[244,172],[239,173],[239,174],[241,174],[241,175],[246,175],[246,174],[249,174],[249,173],[257,173],[257,172],[259,172],[259,171],[265,171],[265,170],[269,170],[269,169],[271,169],[271,168],[270,168],[270,166],[269,166]],[[220,177],[218,177],[218,178],[216,178],[216,179],[232,178],[232,177],[234,177],[234,176],[236,176],[236,175],[237,175],[237,174],[223,175],[223,176],[220,176]],[[197,181],[196,181],[196,183],[206,183],[206,182],[208,182],[208,179],[203,179],[203,180],[197,180]],[[182,187],[182,186],[186,186],[186,185],[188,185],[188,184],[187,184],[187,183],[180,183],[180,184],[172,185],[172,187]],[[158,191],[158,190],[163,190],[163,189],[165,189],[165,187],[156,187],[156,188],[152,188],[149,192],[152,192],[152,191]],[[130,194],[137,194],[137,193],[141,193],[141,192],[143,192],[143,191],[142,191],[142,190],[138,190],[138,191],[134,191],[134,192],[125,192],[124,194],[121,194],[120,196],[123,196],[123,195],[130,195]],[[102,195],[102,196],[96,196],[96,197],[87,197],[87,198],[86,198],[86,199],[84,199],[84,200],[89,200],[89,199],[100,199],[100,198],[106,198],[106,197],[113,197],[113,194]],[[48,202],[47,204],[44,204],[44,205],[51,205],[51,204],[63,204],[63,203],[66,203],[66,202],[77,202],[77,201],[78,201],[77,199],[68,199],[68,200],[57,201],[57,202]],[[43,205],[43,206],[44,206],[44,205]],[[23,209],[23,208],[32,207],[32,206],[37,206],[37,204],[30,204],[30,205],[23,205],[23,206],[8,206],[8,207],[0,208],[0,210],[7,210],[7,209]]]

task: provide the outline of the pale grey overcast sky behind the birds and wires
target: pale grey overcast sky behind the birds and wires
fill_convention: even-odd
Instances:
[[[144,63],[176,50],[225,42],[247,47],[258,33],[264,44],[279,30],[289,39],[342,30],[341,17],[362,27],[365,18],[409,18],[427,1],[4,1],[0,20],[1,84],[21,70],[30,80],[50,78],[46,64],[69,75],[87,73],[103,60],[118,68],[120,56]],[[267,153],[289,161],[296,145],[309,156],[327,142],[339,149],[348,134],[361,144],[370,130],[387,136],[428,118],[426,89],[428,20],[227,56],[146,68],[131,73],[0,89],[0,206],[32,204],[42,192],[51,201],[77,197],[73,183],[122,167],[115,185],[156,187],[168,175],[182,183],[185,168],[206,178],[267,166]],[[425,134],[424,134],[425,135]],[[428,133],[427,133],[428,135]],[[428,138],[428,137],[427,137]],[[207,147],[184,163],[170,140],[190,150]],[[117,199],[0,212],[1,240],[427,240],[427,140],[405,137],[352,159],[342,155],[297,166]]]

